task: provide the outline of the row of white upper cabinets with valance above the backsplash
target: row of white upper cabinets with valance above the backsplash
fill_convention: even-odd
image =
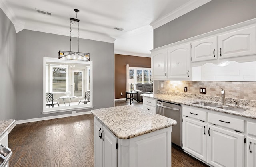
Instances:
[[[244,65],[231,67],[232,61],[245,63],[255,60],[256,18],[152,50],[152,79],[227,81],[229,78],[236,81],[239,78],[237,81],[256,81],[254,64],[246,68]],[[207,65],[210,63],[218,66],[217,70],[202,71],[202,67],[210,67]],[[249,72],[244,73],[246,70]]]

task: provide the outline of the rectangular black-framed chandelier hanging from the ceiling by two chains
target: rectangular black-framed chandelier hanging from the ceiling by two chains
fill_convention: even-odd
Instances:
[[[79,52],[79,19],[77,19],[77,13],[79,12],[78,9],[74,9],[76,12],[76,18],[69,18],[70,20],[70,51],[59,51],[59,59],[66,59],[66,60],[85,60],[90,61],[90,54],[89,53],[82,53]],[[74,21],[74,23],[72,22]],[[78,52],[71,51],[71,25],[78,22],[78,36],[77,36],[77,44],[78,44]]]

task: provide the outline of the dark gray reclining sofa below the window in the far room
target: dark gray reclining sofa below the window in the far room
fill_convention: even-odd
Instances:
[[[153,93],[153,83],[136,83],[135,88],[138,92],[138,101],[143,102],[143,97],[140,96],[141,94],[150,94]],[[136,95],[134,95],[134,98],[137,98]]]

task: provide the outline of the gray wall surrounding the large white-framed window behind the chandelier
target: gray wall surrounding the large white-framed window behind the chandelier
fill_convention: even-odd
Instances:
[[[77,51],[77,38],[72,51]],[[58,58],[58,51],[70,50],[70,37],[22,30],[17,33],[17,117],[16,120],[70,114],[42,114],[43,57]],[[114,106],[114,44],[79,39],[79,51],[93,61],[94,109]],[[84,112],[90,110],[76,110]]]

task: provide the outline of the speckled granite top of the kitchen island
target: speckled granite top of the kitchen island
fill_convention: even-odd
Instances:
[[[176,125],[165,116],[135,106],[118,106],[91,111],[117,138],[130,139]]]

